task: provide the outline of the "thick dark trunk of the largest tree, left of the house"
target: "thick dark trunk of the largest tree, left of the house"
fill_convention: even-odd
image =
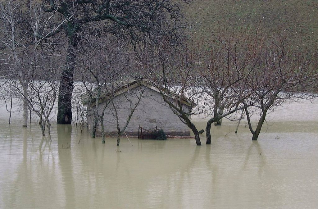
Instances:
[[[60,81],[57,124],[71,124],[72,122],[73,74],[76,62],[76,48],[77,40],[75,35],[72,35],[69,37],[66,66]]]

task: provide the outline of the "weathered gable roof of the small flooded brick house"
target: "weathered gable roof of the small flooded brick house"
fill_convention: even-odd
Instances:
[[[111,88],[111,85],[109,85],[108,88],[105,87],[104,93],[102,92],[100,94],[100,103],[106,101],[110,97],[116,97],[116,96],[118,96],[124,92],[127,92],[128,90],[133,89],[137,86],[145,86],[145,87],[150,88],[150,89],[152,89],[160,94],[165,92],[164,94],[166,96],[170,97],[171,99],[178,99],[179,100],[181,97],[181,95],[176,94],[170,90],[164,90],[164,89],[157,88],[149,80],[139,78],[139,79],[127,79],[127,80],[122,80],[122,81],[116,82],[116,88],[114,88],[114,87]],[[97,93],[97,89],[94,89],[93,92]],[[87,105],[90,101],[92,102],[92,104],[94,104],[96,102],[96,96],[90,96],[89,93],[86,93],[81,97],[81,100],[82,100],[83,105]],[[188,98],[186,98],[184,96],[182,96],[181,102],[189,107],[191,107],[192,105],[195,105],[193,101],[190,101]]]

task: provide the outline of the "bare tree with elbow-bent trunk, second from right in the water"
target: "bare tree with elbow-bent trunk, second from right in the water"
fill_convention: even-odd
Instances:
[[[208,49],[198,47],[198,82],[207,94],[212,117],[206,124],[206,143],[211,144],[211,124],[221,125],[222,118],[244,109],[247,85],[262,49],[258,33],[246,31],[225,34],[218,31]],[[203,49],[202,49],[203,48]]]

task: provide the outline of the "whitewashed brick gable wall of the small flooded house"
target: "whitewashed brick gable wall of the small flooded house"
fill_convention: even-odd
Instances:
[[[181,122],[177,115],[173,114],[173,111],[163,101],[161,94],[144,86],[130,89],[128,92],[114,98],[113,101],[117,107],[121,129],[124,127],[130,113],[130,102],[128,99],[132,101],[132,107],[134,107],[138,101],[137,95],[140,96],[142,91],[142,99],[125,130],[128,135],[138,135],[138,126],[143,129],[153,129],[157,126],[157,128],[163,129],[167,135],[190,136],[189,127]],[[124,94],[128,99],[126,99]],[[100,104],[100,112],[103,107],[105,107],[105,102]],[[184,108],[188,109],[188,106],[184,105]],[[87,121],[91,128],[92,118],[88,118]],[[114,108],[111,103],[108,104],[105,110],[104,127],[107,135],[112,136],[117,132]],[[100,130],[100,125],[98,130]]]

